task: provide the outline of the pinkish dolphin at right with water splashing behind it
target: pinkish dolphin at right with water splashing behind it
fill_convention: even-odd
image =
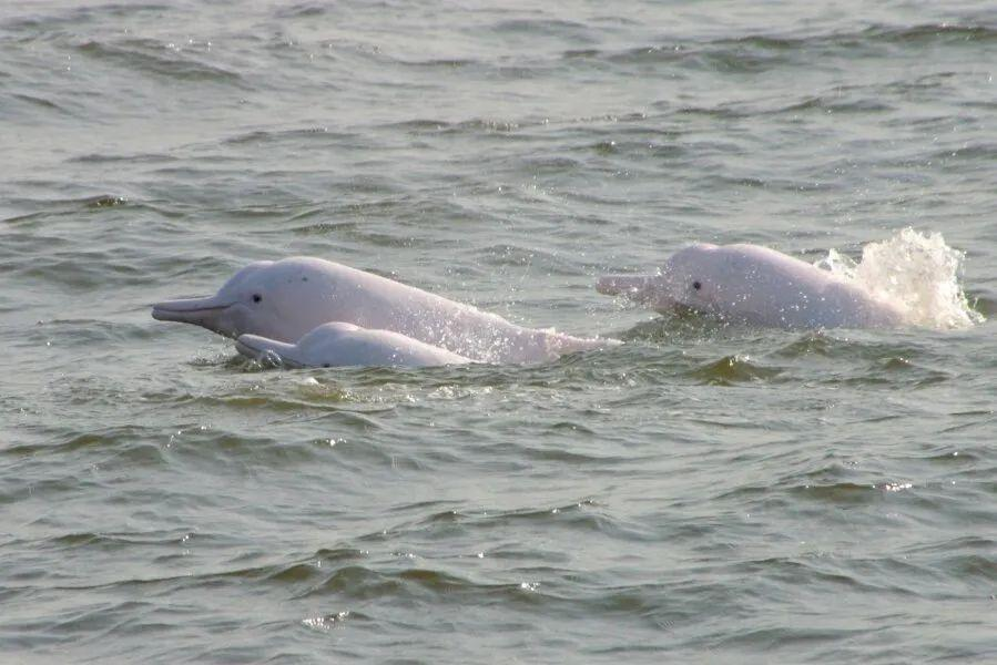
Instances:
[[[596,289],[664,313],[675,306],[777,328],[889,328],[899,308],[806,262],[757,245],[694,244],[653,275],[609,275]]]

